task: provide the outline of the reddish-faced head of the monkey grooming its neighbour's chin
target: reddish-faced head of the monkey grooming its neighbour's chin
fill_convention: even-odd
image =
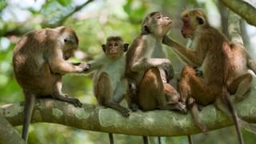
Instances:
[[[186,10],[182,13],[182,36],[184,38],[194,38],[196,30],[202,26],[209,26],[206,14],[203,10]]]

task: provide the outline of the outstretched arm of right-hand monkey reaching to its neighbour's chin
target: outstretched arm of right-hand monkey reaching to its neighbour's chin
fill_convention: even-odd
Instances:
[[[190,50],[186,46],[183,46],[179,44],[178,42],[175,42],[174,40],[165,37],[163,39],[163,43],[167,46],[174,47],[174,52],[178,55],[179,58],[182,59],[183,62],[186,62],[187,64],[191,66],[201,66],[202,65],[202,58],[200,58],[200,55],[197,50]]]

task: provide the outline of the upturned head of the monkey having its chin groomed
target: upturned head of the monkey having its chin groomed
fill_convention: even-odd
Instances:
[[[169,17],[163,16],[160,12],[152,12],[142,22],[142,34],[154,34],[164,36],[173,26]]]

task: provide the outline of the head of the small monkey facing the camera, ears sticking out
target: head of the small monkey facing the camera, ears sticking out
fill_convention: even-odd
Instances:
[[[106,39],[106,44],[102,45],[102,50],[108,58],[121,58],[128,50],[128,46],[128,43],[123,43],[121,37],[109,37]]]

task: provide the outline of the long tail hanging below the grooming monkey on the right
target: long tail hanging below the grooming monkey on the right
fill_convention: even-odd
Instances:
[[[238,114],[236,112],[236,110],[234,110],[234,106],[232,104],[232,102],[230,101],[230,93],[227,91],[226,88],[224,88],[224,100],[226,102],[226,105],[227,105],[227,108],[228,110],[230,110],[230,113],[232,115],[232,118],[234,120],[234,126],[235,126],[235,129],[237,131],[237,134],[238,134],[238,142],[240,144],[243,144],[243,138],[242,138],[242,132],[241,132],[241,129],[239,127],[239,121],[238,121]]]

